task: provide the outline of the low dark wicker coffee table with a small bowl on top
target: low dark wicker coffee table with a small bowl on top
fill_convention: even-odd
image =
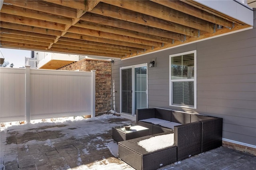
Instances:
[[[149,135],[149,128],[142,127],[139,125],[132,125],[130,130],[125,130],[124,126],[112,128],[112,138],[116,140],[116,142],[129,140],[133,138],[139,138],[147,135]]]

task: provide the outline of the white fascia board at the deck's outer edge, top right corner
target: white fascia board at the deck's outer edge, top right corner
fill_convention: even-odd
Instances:
[[[218,12],[236,18],[253,26],[253,10],[248,5],[240,4],[234,0],[194,0]]]

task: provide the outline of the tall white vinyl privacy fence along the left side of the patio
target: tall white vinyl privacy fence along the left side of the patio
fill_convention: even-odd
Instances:
[[[95,70],[0,67],[0,122],[79,115],[95,117]]]

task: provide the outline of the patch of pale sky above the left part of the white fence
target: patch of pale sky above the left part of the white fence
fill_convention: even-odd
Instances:
[[[28,50],[0,48],[0,51],[4,56],[4,61],[13,63],[15,68],[25,66],[25,57],[31,57],[31,51]],[[7,67],[10,67],[10,64]]]

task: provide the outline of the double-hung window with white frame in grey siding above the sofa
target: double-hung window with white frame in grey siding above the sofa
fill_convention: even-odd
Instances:
[[[170,106],[196,109],[196,50],[170,55]]]

